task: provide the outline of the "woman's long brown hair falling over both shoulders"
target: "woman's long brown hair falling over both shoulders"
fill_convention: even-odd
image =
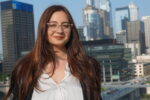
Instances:
[[[70,39],[66,44],[67,59],[71,73],[94,91],[100,91],[99,77],[97,77],[94,71],[94,65],[91,63],[92,60],[89,60],[79,41],[79,35],[71,14],[64,6],[53,5],[48,7],[41,16],[38,25],[38,36],[33,49],[29,54],[17,61],[12,72],[10,89],[6,98],[15,90],[14,96],[18,100],[25,100],[28,92],[37,87],[38,78],[49,62],[54,64],[53,72],[55,71],[55,53],[48,42],[48,26],[46,23],[56,11],[64,11],[70,23],[73,24]]]

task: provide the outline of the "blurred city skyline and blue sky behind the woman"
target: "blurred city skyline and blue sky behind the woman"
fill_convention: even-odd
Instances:
[[[103,100],[150,100],[150,0],[0,0],[0,98],[54,4],[68,8],[87,54],[101,64]]]

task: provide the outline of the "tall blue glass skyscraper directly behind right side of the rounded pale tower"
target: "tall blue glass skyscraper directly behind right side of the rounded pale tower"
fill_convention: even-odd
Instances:
[[[112,28],[112,10],[111,3],[109,0],[95,0],[95,7],[99,9],[101,17],[101,33],[103,39],[112,39],[113,28]]]

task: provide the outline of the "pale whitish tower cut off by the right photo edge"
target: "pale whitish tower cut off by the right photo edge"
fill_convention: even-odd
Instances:
[[[150,16],[142,17],[142,21],[144,22],[146,53],[150,54]]]

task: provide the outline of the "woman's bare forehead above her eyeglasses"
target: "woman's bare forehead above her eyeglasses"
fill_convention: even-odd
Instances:
[[[56,21],[56,22],[68,22],[69,18],[64,11],[56,11],[52,14],[49,20]]]

